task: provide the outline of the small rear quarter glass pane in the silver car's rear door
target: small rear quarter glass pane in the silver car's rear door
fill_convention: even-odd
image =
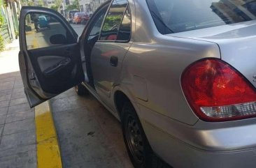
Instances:
[[[118,32],[118,40],[128,41],[131,36],[131,13],[127,8]]]

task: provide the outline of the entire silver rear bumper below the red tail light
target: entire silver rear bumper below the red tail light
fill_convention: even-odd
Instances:
[[[247,125],[186,125],[140,106],[139,117],[150,145],[174,168],[256,167],[255,119]],[[205,125],[204,125],[205,124]],[[201,128],[201,129],[200,129]]]

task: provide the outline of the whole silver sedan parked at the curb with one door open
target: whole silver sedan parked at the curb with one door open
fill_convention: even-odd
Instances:
[[[106,1],[80,38],[57,11],[23,7],[19,60],[29,105],[73,86],[92,93],[120,120],[135,168],[254,168],[255,4]],[[28,49],[29,13],[61,22],[55,35],[38,37],[48,47]]]

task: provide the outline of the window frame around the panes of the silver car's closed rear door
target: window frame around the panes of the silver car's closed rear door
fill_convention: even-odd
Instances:
[[[115,1],[115,0],[113,0],[113,1]],[[113,1],[111,1],[110,6],[108,6],[108,10],[106,12],[106,15],[104,16],[104,21],[101,24],[101,29],[100,29],[99,38],[97,40],[97,43],[129,43],[130,40],[131,40],[131,35],[129,37],[129,40],[100,40],[101,39],[101,33],[102,33],[102,30],[103,30],[103,26],[104,26],[104,23],[106,21],[106,17],[108,16],[108,12],[111,9]],[[127,13],[127,10],[129,10],[129,12],[131,13],[131,8],[129,6],[129,1],[128,0],[126,0],[126,1],[127,1],[127,7],[125,8],[125,13]],[[123,13],[122,20],[121,20],[121,22],[120,22],[120,24],[118,26],[117,38],[118,38],[119,31],[120,31],[120,26],[122,25],[122,21],[124,20],[124,17],[125,17],[125,13]],[[131,19],[130,19],[130,21],[131,21]],[[131,24],[132,24],[132,22],[131,22]],[[130,29],[130,32],[131,32],[131,29]]]

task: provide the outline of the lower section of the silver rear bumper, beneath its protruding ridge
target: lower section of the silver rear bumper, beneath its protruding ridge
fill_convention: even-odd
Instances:
[[[181,142],[144,123],[150,145],[173,168],[253,168],[256,167],[256,148],[236,151],[205,151]],[[225,146],[223,146],[225,148]]]

